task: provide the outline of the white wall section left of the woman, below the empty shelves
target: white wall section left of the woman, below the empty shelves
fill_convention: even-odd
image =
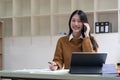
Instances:
[[[47,68],[54,55],[56,39],[45,36],[4,38],[4,69]]]

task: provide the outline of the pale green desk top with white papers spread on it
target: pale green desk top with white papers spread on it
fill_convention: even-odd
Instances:
[[[69,70],[35,71],[35,70],[1,70],[4,78],[34,78],[34,79],[67,79],[67,80],[120,80],[120,77],[103,77],[93,74],[70,74]]]

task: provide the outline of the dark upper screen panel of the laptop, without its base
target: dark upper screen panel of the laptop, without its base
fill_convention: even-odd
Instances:
[[[102,66],[106,61],[107,53],[73,52],[71,66]]]

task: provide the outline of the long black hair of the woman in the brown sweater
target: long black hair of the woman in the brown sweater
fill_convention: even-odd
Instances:
[[[82,10],[75,10],[75,11],[71,14],[71,16],[70,16],[70,18],[69,18],[69,34],[68,34],[68,35],[70,35],[70,34],[73,32],[72,29],[71,29],[71,19],[72,19],[72,17],[73,17],[74,15],[76,15],[76,14],[79,15],[79,18],[80,18],[81,22],[83,22],[83,23],[88,23],[88,19],[87,19],[86,13],[83,12]],[[85,25],[83,25],[83,26],[85,26]],[[82,31],[81,31],[81,32],[82,32],[82,36],[83,36],[83,37],[85,37],[84,31],[86,31],[86,28],[85,28],[85,27],[82,27]],[[91,40],[93,49],[95,50],[95,49],[98,47],[98,44],[97,44],[97,42],[95,41],[94,37],[91,36],[90,32],[89,32],[89,37],[90,37],[90,40]]]

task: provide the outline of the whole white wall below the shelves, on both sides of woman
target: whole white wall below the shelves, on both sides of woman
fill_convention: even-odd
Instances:
[[[120,61],[118,33],[95,34],[99,52],[108,52],[106,63]],[[4,69],[48,68],[54,55],[57,37],[4,38]]]

